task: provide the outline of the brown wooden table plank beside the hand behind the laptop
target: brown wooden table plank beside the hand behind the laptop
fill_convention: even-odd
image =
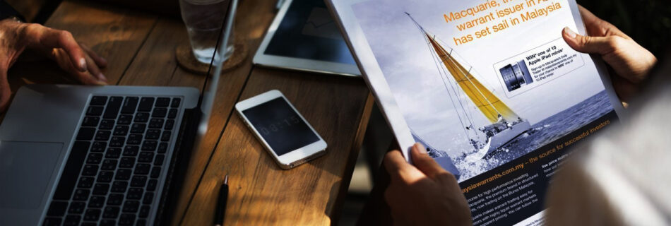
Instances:
[[[155,16],[138,11],[64,1],[45,25],[70,31],[76,40],[105,57],[109,65],[102,72],[114,84],[133,61],[155,22]],[[26,83],[75,83],[48,60],[18,61],[9,75],[14,91]]]

